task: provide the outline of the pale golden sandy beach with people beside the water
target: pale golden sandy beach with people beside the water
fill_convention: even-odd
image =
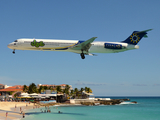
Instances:
[[[19,120],[23,117],[21,112],[33,107],[34,104],[28,102],[0,102],[0,120]]]

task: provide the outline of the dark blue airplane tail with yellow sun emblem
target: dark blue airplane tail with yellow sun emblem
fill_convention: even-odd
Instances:
[[[152,29],[144,30],[144,31],[134,31],[126,40],[122,41],[124,43],[136,45],[143,37],[148,37],[147,32]]]

